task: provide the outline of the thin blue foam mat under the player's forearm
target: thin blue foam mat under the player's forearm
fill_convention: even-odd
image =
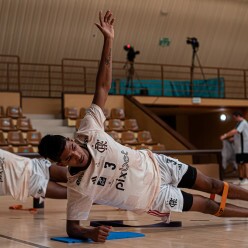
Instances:
[[[110,232],[109,236],[107,237],[107,240],[113,240],[113,239],[128,239],[128,238],[140,238],[144,237],[145,234],[143,233],[137,233],[137,232]],[[59,241],[63,243],[89,243],[93,242],[90,239],[74,239],[69,237],[53,237],[51,240]]]

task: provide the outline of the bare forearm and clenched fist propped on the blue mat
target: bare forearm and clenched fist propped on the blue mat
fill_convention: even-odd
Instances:
[[[67,234],[71,238],[92,239],[95,242],[105,242],[111,227],[99,226],[92,228],[84,228],[79,225],[77,220],[67,220]]]

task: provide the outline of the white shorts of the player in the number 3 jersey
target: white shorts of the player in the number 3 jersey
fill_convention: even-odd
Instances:
[[[161,185],[160,192],[148,213],[166,220],[171,211],[183,210],[183,195],[177,186],[187,172],[188,165],[163,154],[154,154],[154,157],[160,167]]]

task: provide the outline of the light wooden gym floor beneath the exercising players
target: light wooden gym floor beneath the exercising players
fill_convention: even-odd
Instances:
[[[248,186],[246,186],[248,188]],[[248,202],[230,201],[248,207]],[[145,234],[142,238],[109,240],[103,244],[66,244],[50,240],[51,237],[67,236],[66,201],[46,199],[45,208],[37,213],[9,210],[9,206],[20,204],[11,197],[1,197],[0,204],[0,247],[123,247],[123,248],[193,248],[193,247],[248,247],[248,218],[217,218],[200,213],[173,213],[172,221],[182,221],[182,227],[164,228],[114,228],[114,231],[130,231]],[[32,208],[29,198],[24,208]],[[136,215],[111,207],[94,205],[90,220],[124,220],[130,225],[153,224],[159,218],[147,214]],[[89,225],[89,221],[82,222]]]

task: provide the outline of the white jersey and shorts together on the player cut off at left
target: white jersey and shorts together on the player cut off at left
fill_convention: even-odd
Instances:
[[[45,197],[49,182],[46,159],[30,159],[0,149],[0,195],[25,201],[28,196]]]

